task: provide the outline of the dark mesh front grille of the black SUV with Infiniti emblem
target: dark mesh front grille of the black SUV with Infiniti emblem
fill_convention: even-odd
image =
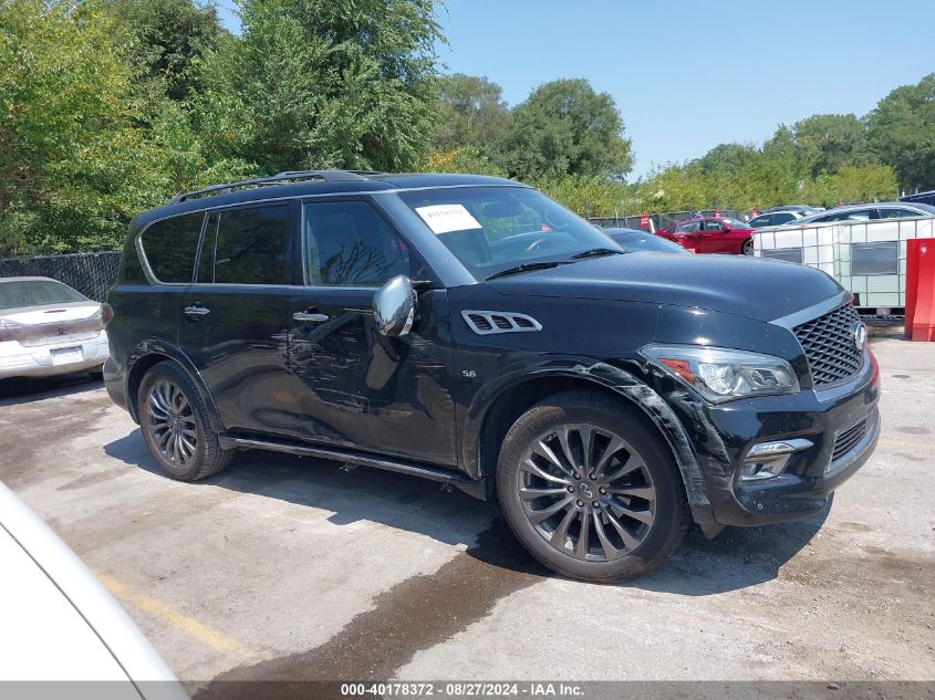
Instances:
[[[860,372],[863,348],[858,348],[854,342],[854,330],[860,322],[856,310],[844,304],[793,328],[806,351],[815,389],[838,384]]]

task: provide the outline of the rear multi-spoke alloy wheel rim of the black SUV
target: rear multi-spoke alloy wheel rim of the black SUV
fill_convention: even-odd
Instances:
[[[146,397],[146,430],[159,455],[170,464],[187,467],[198,451],[198,425],[185,393],[159,379]]]

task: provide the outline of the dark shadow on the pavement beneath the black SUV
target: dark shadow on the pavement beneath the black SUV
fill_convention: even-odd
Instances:
[[[168,479],[138,430],[106,445],[104,451]],[[505,570],[506,575],[558,577],[516,543],[496,504],[457,490],[445,492],[438,483],[417,477],[364,467],[347,472],[334,461],[250,450],[238,453],[224,472],[191,487],[206,484],[330,511],[328,520],[339,525],[371,521],[465,545],[466,555]],[[714,540],[693,526],[661,570],[622,585],[705,596],[771,581],[821,529],[828,511],[782,525],[728,527]]]

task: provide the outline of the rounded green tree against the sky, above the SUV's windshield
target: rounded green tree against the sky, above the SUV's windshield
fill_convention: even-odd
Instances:
[[[607,93],[586,80],[559,80],[513,109],[503,159],[520,179],[623,175],[633,167],[630,146]]]

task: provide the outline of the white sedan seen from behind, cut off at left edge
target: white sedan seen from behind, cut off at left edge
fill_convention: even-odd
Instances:
[[[49,278],[0,278],[0,378],[100,375],[107,311]]]

